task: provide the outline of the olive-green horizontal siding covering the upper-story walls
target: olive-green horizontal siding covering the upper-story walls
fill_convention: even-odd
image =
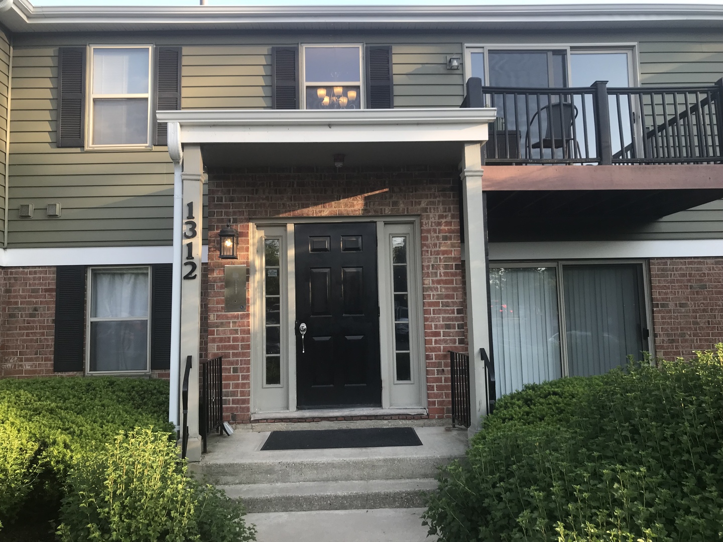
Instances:
[[[464,69],[447,69],[466,44],[535,46],[636,43],[642,85],[709,85],[723,74],[723,41],[696,31],[398,32],[363,33],[126,33],[17,35],[14,37],[9,246],[171,244],[173,164],[166,147],[153,151],[86,152],[56,148],[58,46],[86,43],[156,43],[183,46],[181,106],[189,109],[270,108],[271,48],[298,43],[391,45],[394,104],[398,108],[458,107]],[[0,160],[7,114],[7,40],[0,37]],[[4,164],[0,178],[4,184]],[[4,189],[0,188],[0,198]],[[45,206],[60,202],[61,218]],[[35,218],[20,219],[20,203]],[[0,205],[4,212],[5,202]],[[713,202],[636,226],[630,238],[720,238],[723,202]],[[0,220],[2,227],[3,220]]]

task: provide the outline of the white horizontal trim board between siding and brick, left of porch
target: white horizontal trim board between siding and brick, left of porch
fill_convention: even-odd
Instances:
[[[80,246],[0,250],[0,267],[170,264],[172,261],[172,246]],[[202,249],[201,261],[208,262],[206,245]]]

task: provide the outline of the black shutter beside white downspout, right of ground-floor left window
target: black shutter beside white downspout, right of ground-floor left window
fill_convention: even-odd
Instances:
[[[171,286],[173,265],[152,266],[150,293],[150,368],[171,368]]]

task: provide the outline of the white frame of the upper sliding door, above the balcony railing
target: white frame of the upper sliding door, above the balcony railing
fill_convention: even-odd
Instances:
[[[628,53],[628,81],[630,87],[640,86],[638,43],[466,43],[464,46],[464,80],[472,77],[471,53],[484,53],[484,83],[489,86],[489,51],[566,51],[568,87],[572,65],[570,53]]]

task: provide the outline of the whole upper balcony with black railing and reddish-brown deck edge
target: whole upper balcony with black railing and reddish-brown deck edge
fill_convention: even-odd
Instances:
[[[462,107],[488,106],[482,188],[495,241],[609,236],[723,197],[723,79],[534,89],[469,79]]]

